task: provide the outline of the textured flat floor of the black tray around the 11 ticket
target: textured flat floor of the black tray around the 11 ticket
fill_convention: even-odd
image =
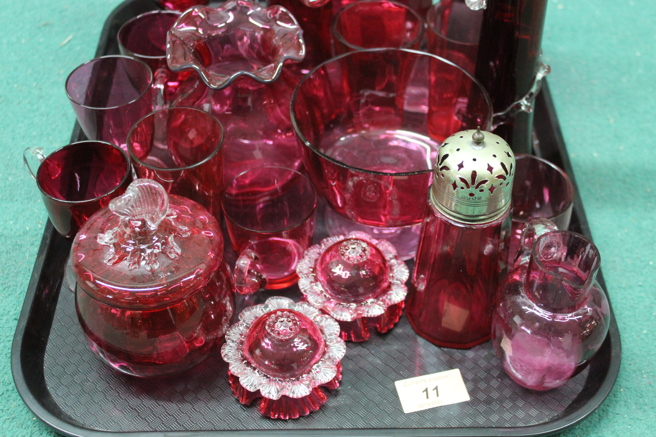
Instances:
[[[182,375],[150,381],[111,370],[89,349],[73,294],[62,290],[44,371],[65,413],[112,431],[520,427],[559,417],[588,374],[556,390],[531,392],[501,370],[490,341],[466,351],[442,349],[415,334],[405,315],[390,333],[348,342],[342,366],[342,385],[319,411],[292,421],[266,419],[256,406],[237,402],[218,354]],[[469,402],[403,413],[395,380],[453,368],[461,370]]]

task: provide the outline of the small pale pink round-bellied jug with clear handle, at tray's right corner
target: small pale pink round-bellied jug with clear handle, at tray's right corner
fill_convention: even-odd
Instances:
[[[531,219],[516,269],[499,287],[492,340],[503,370],[527,389],[564,385],[601,347],[610,320],[592,242]]]

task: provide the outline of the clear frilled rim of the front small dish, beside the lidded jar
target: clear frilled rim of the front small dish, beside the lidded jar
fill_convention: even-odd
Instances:
[[[243,345],[249,330],[258,318],[276,309],[291,309],[308,316],[319,327],[325,342],[325,351],[312,369],[296,378],[281,379],[266,375],[246,360]],[[337,365],[346,353],[346,345],[339,335],[337,321],[306,302],[295,303],[287,297],[274,296],[265,303],[244,309],[239,314],[239,322],[230,326],[226,332],[226,343],[221,347],[221,356],[228,363],[230,373],[239,377],[239,383],[251,391],[260,393],[272,400],[280,396],[302,398],[308,396],[312,389],[329,383],[337,375]]]

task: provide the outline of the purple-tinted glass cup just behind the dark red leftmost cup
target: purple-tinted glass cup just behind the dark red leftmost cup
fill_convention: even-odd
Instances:
[[[125,150],[134,123],[152,111],[152,83],[146,63],[128,56],[102,56],[68,75],[66,95],[89,140]]]

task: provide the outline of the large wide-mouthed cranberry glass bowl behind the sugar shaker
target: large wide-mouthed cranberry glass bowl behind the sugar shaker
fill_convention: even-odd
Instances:
[[[399,227],[424,217],[441,142],[487,126],[490,108],[485,90],[460,67],[380,48],[316,67],[298,84],[291,113],[306,169],[335,211]]]

